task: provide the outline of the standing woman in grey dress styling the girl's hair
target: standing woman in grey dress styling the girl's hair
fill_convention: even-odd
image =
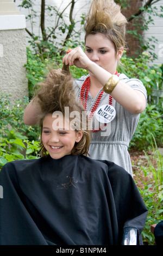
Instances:
[[[62,63],[89,71],[74,81],[74,90],[92,123],[90,157],[115,162],[132,175],[128,146],[146,108],[147,93],[140,80],[117,71],[126,44],[126,24],[113,0],[93,0],[85,21],[85,53],[80,47],[70,49]],[[24,123],[35,124],[39,111],[31,101]]]

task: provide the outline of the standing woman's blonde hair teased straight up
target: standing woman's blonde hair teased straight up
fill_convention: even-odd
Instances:
[[[112,41],[116,53],[126,45],[127,19],[114,0],[93,0],[85,19],[85,39],[89,34],[103,34]]]

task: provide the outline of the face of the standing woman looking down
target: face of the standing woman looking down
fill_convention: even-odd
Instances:
[[[121,58],[123,48],[116,53],[114,44],[106,36],[89,34],[85,40],[85,53],[92,62],[114,74],[117,68],[117,59]]]

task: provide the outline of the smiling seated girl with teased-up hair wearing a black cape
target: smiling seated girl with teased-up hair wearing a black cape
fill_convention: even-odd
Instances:
[[[142,244],[147,208],[126,170],[87,156],[89,123],[72,77],[53,70],[36,99],[41,156],[1,170],[0,245],[121,245],[130,229]]]

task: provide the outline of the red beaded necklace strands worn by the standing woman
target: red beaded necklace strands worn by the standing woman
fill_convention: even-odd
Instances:
[[[118,74],[117,70],[115,72],[115,75],[117,75],[117,76],[120,75],[120,74]],[[82,87],[80,89],[80,95],[79,95],[79,99],[80,99],[80,101],[82,101],[83,106],[85,107],[85,110],[86,110],[86,105],[87,105],[87,97],[89,94],[89,89],[90,89],[90,76],[87,77],[86,80],[84,81],[84,83],[82,84]],[[90,115],[88,117],[89,121],[91,120],[94,112],[96,111],[96,109],[99,105],[99,102],[101,101],[103,93],[104,93],[104,91],[103,91],[103,89],[101,89],[100,92],[98,93],[98,96],[96,98],[94,105],[92,106],[92,108],[90,110]],[[112,105],[112,96],[111,95],[109,95],[109,105]],[[98,130],[92,130],[92,132],[98,132],[98,131],[102,130],[105,126],[106,126],[106,124],[99,127]]]

